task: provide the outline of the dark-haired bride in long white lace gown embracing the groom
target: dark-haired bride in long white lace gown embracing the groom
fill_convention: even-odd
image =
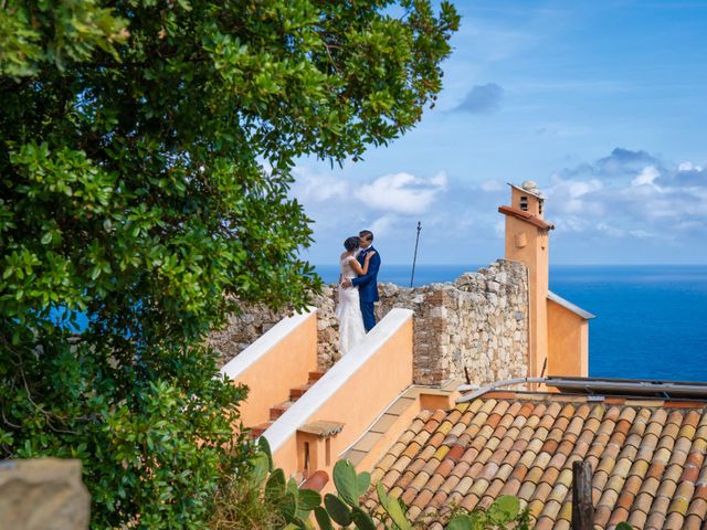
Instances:
[[[341,286],[345,279],[356,278],[368,273],[370,258],[376,254],[376,252],[369,252],[361,267],[355,255],[359,242],[360,237],[348,237],[344,242],[346,252],[339,258],[341,274],[339,275],[339,305],[336,308],[336,316],[339,319],[339,352],[341,356],[366,336],[358,298],[358,287],[351,286],[347,288]]]

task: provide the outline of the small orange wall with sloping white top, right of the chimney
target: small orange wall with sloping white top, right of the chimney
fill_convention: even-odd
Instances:
[[[548,375],[589,374],[589,322],[562,307],[548,304]]]

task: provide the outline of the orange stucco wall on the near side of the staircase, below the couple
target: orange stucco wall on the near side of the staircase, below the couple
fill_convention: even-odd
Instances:
[[[323,382],[325,382],[324,379],[319,381],[319,383]],[[410,384],[412,384],[411,317],[368,358],[365,364],[348,374],[334,394],[306,418],[305,423],[328,421],[344,424],[342,431],[329,438],[330,458],[326,459],[324,438],[298,432],[275,449],[273,455],[275,465],[282,467],[287,475],[302,473],[303,447],[307,442],[309,470],[324,470],[331,476],[334,464],[340,455]],[[310,392],[315,389],[316,386]]]

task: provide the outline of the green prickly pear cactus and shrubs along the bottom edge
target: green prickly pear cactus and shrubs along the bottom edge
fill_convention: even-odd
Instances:
[[[316,491],[297,489],[293,478],[285,481],[284,471],[273,468],[265,438],[260,438],[260,449],[250,460],[247,492],[240,489],[219,499],[217,516],[211,522],[213,530],[245,528],[314,530],[317,527],[319,530],[334,530],[337,524],[338,528],[356,530],[425,528],[425,522],[411,522],[405,515],[404,505],[399,499],[387,495],[381,484],[376,485],[380,510],[371,515],[360,504],[361,497],[369,490],[370,474],[357,474],[354,465],[348,460],[339,460],[334,466],[337,495],[327,494],[323,499]],[[313,515],[317,527],[312,520]],[[250,526],[244,524],[246,519]],[[453,510],[449,519],[445,527],[447,530],[529,528],[527,511],[521,511],[518,499],[508,495],[496,499],[488,510],[477,509],[467,512],[457,509]]]

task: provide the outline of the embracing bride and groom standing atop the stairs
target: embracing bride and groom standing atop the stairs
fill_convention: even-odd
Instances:
[[[373,233],[369,230],[344,242],[346,252],[339,263],[339,352],[345,354],[376,326],[373,303],[378,301],[378,269],[380,255],[373,248]]]

